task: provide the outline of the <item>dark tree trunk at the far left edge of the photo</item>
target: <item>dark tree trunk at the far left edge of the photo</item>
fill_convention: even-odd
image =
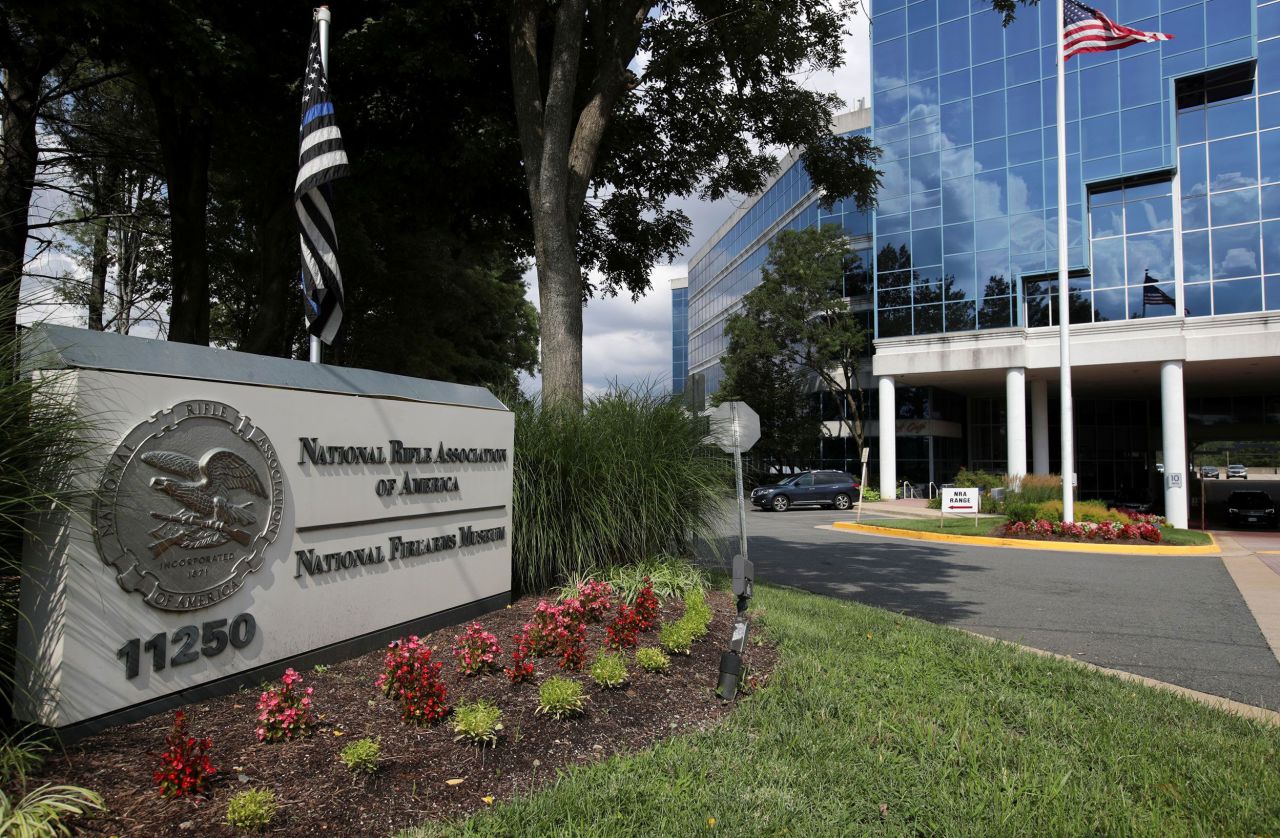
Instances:
[[[0,329],[5,335],[18,328],[18,294],[27,251],[27,211],[36,184],[36,116],[40,83],[51,67],[41,61],[24,67],[13,61],[4,68],[4,113],[0,133]]]

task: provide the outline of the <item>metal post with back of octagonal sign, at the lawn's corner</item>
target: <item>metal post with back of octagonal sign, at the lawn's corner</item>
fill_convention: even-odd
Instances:
[[[746,649],[746,605],[751,599],[755,567],[746,558],[746,495],[742,490],[742,452],[760,439],[760,417],[745,402],[724,402],[707,411],[712,418],[712,439],[733,454],[733,473],[737,482],[737,537],[739,550],[733,557],[733,595],[737,596],[737,619],[730,636],[728,649],[721,654],[719,683],[716,695],[731,701],[737,695],[742,676],[742,651]]]

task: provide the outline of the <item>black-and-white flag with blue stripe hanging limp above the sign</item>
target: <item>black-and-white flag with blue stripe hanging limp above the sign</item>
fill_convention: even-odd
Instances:
[[[347,152],[333,118],[329,79],[320,61],[320,22],[311,24],[311,49],[302,77],[302,128],[293,205],[302,239],[302,294],[307,331],[333,343],[342,325],[342,271],[338,235],[329,211],[329,182],[347,174]]]

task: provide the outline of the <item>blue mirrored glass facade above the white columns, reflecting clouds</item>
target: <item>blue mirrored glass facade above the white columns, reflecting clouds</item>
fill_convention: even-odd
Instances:
[[[1280,8],[1093,5],[1175,37],[1068,61],[1073,322],[1280,308]],[[878,336],[1056,322],[1053,12],[872,0]]]

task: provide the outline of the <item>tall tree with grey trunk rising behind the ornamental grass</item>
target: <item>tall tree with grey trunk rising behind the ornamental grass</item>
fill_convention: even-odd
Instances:
[[[512,0],[511,81],[539,294],[543,397],[580,406],[582,304],[649,287],[689,239],[669,196],[759,191],[771,147],[804,148],[824,202],[869,206],[865,137],[831,133],[841,101],[801,88],[842,63],[846,0]],[[591,196],[591,201],[588,201]],[[591,270],[600,287],[588,280]]]

